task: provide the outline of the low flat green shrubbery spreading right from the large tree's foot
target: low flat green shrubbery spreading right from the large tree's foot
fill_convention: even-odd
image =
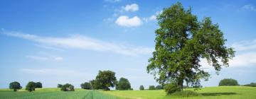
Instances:
[[[176,91],[175,93],[172,93],[171,95],[174,95],[176,97],[191,97],[191,96],[198,96],[201,94],[196,93],[195,91]]]

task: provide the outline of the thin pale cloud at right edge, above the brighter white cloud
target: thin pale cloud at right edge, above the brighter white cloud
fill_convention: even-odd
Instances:
[[[235,42],[231,47],[236,51],[256,50],[256,40]]]

